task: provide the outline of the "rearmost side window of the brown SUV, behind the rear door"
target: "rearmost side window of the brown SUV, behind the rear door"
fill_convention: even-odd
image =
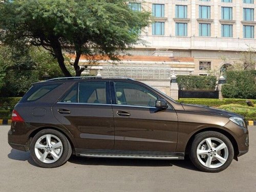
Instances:
[[[33,86],[28,93],[25,96],[25,101],[35,101],[43,96],[45,96],[47,93],[55,89],[56,87],[60,86],[60,83],[58,84],[48,84],[48,85],[36,85]]]

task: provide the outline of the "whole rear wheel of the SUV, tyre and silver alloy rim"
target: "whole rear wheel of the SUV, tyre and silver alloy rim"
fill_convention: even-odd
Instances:
[[[54,168],[68,161],[72,147],[65,135],[56,130],[46,129],[32,138],[30,151],[32,159],[38,166]]]

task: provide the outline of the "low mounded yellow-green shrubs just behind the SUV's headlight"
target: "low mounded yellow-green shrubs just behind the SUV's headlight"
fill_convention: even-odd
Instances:
[[[246,120],[256,120],[256,106],[245,106],[240,104],[221,105],[219,109],[243,115]]]

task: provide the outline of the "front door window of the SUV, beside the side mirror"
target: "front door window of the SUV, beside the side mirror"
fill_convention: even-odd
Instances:
[[[133,83],[115,83],[117,104],[155,106],[157,95],[144,87]]]

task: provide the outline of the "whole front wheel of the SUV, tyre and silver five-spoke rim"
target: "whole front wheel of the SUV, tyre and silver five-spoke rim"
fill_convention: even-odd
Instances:
[[[233,145],[223,134],[214,131],[195,136],[189,158],[203,172],[218,173],[226,169],[234,157]]]

